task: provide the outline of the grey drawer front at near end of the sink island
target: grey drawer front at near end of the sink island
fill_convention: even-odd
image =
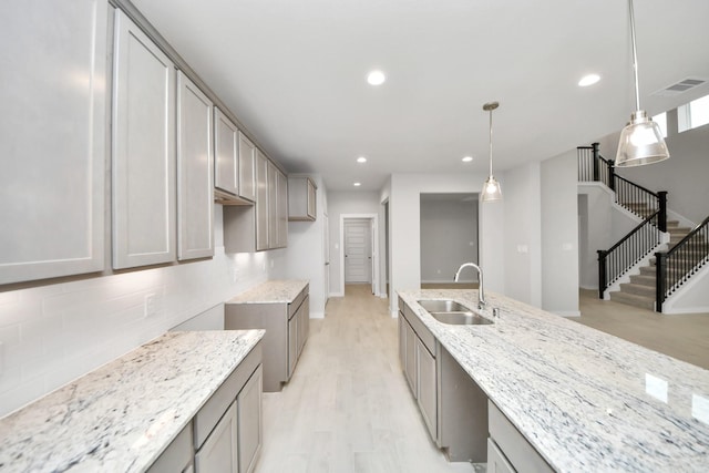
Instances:
[[[487,401],[487,412],[490,436],[512,463],[514,471],[520,473],[554,471],[492,401]]]

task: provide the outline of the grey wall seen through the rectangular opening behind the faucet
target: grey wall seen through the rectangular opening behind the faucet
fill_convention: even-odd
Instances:
[[[461,263],[477,263],[477,195],[421,194],[421,281],[451,282]],[[477,280],[475,271],[461,281]]]

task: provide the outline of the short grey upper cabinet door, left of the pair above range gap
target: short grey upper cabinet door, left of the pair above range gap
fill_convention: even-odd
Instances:
[[[239,193],[239,131],[217,107],[214,107],[214,186],[232,195]]]

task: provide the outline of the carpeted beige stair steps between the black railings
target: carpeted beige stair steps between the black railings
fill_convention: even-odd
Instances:
[[[637,208],[633,212],[643,214],[646,209]],[[690,230],[690,228],[680,227],[677,220],[667,220],[667,232],[670,234],[668,249],[677,245]],[[699,259],[700,255],[697,254],[697,261]],[[630,276],[630,282],[620,284],[619,291],[609,292],[610,300],[647,310],[655,310],[656,294],[657,269],[655,267],[655,258],[650,259],[649,265],[640,267],[639,275]]]

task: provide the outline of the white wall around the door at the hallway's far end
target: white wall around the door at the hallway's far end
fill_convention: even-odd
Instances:
[[[343,296],[341,281],[342,248],[340,247],[340,217],[343,214],[377,215],[377,227],[383,234],[383,220],[380,218],[381,205],[376,192],[330,192],[328,194],[328,216],[330,220],[330,294]],[[381,245],[379,246],[381,248]],[[381,249],[380,249],[381,253]],[[380,278],[381,280],[382,278]]]

